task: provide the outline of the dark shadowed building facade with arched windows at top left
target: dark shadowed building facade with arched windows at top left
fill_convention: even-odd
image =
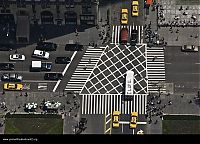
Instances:
[[[0,0],[0,14],[28,16],[30,24],[96,25],[98,0]]]

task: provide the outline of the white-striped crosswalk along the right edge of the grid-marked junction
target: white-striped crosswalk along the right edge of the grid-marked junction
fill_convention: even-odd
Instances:
[[[148,91],[158,92],[159,85],[165,81],[165,62],[163,47],[147,47]],[[160,89],[166,92],[165,87]]]

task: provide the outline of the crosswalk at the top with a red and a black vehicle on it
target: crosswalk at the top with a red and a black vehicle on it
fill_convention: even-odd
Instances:
[[[131,31],[136,29],[138,30],[138,43],[143,43],[143,26],[135,26],[135,25],[119,25],[119,26],[113,26],[112,27],[112,39],[111,44],[118,45],[120,44],[120,30],[122,28],[127,28],[129,30],[129,39],[131,37]],[[130,43],[127,43],[130,44]]]

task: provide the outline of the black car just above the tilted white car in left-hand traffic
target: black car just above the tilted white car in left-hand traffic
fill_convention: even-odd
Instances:
[[[57,47],[57,44],[52,42],[39,42],[36,49],[42,51],[56,51]]]

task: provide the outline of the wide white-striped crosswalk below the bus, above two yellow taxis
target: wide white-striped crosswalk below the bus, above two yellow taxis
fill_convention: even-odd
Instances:
[[[121,114],[138,112],[146,114],[147,95],[135,94],[130,100],[124,100],[120,94],[82,95],[82,114],[108,114],[120,111]]]

